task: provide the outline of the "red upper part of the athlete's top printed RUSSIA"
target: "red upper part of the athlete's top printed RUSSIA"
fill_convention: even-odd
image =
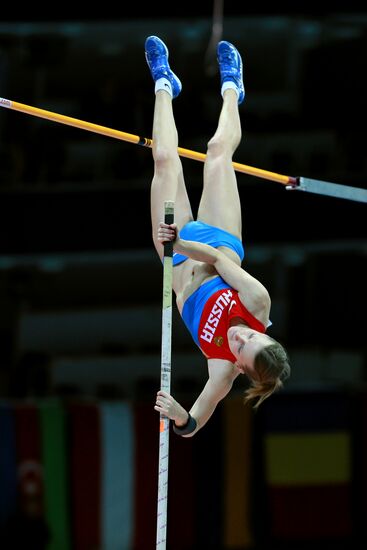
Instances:
[[[234,317],[239,317],[258,332],[266,331],[264,325],[245,308],[236,290],[217,290],[206,302],[199,323],[199,345],[207,359],[227,359],[232,363],[236,362],[227,338],[230,321]]]

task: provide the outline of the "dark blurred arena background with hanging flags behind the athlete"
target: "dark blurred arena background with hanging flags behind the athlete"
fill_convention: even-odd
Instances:
[[[5,9],[0,96],[151,137],[144,41],[156,34],[183,82],[180,146],[205,153],[218,6],[245,67],[234,160],[365,189],[367,12],[351,4]],[[183,165],[195,205],[202,164]],[[149,149],[0,110],[1,549],[155,544],[152,171]],[[246,268],[270,292],[292,376],[256,414],[237,381],[197,437],[172,435],[168,547],[365,548],[366,205],[238,182]],[[176,311],[172,342],[172,392],[190,406],[206,367]]]

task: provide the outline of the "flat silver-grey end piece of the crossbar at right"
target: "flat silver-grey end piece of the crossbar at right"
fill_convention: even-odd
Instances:
[[[339,185],[329,181],[299,177],[297,178],[297,184],[287,185],[286,189],[289,191],[307,191],[308,193],[367,203],[367,189]]]

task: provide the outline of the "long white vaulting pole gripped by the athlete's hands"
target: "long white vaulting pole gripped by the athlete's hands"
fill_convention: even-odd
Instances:
[[[173,223],[174,202],[165,201],[164,221]],[[173,243],[164,243],[163,256],[163,303],[162,303],[162,351],[161,351],[161,390],[171,391],[171,341],[172,341],[172,276]],[[160,415],[159,419],[159,463],[158,463],[158,507],[157,507],[157,550],[166,549],[167,540],[167,497],[168,497],[168,457],[170,421]]]

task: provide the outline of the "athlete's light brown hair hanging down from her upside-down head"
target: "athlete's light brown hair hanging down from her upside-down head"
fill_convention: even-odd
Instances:
[[[255,401],[254,409],[283,387],[283,381],[290,376],[288,354],[279,342],[265,346],[255,357],[254,367],[259,380],[251,379],[251,386],[245,391],[245,403]]]

